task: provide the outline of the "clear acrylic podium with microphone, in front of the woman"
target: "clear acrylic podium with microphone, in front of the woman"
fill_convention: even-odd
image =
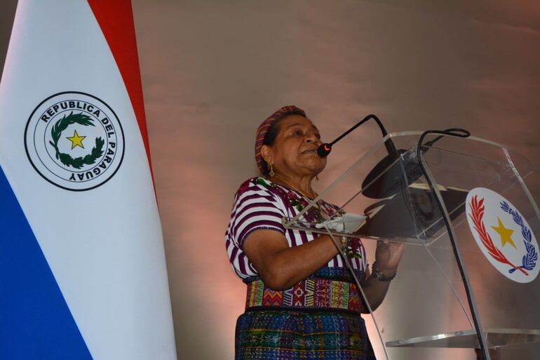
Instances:
[[[405,243],[384,302],[373,312],[365,304],[379,360],[540,359],[540,276],[516,282],[499,272],[473,238],[466,213],[471,206],[468,192],[490,189],[504,196],[530,232],[540,236],[539,208],[523,180],[531,173],[529,162],[502,145],[472,136],[427,135],[426,145],[419,147],[421,134],[386,135],[283,224],[330,234],[336,244],[339,236],[360,237],[372,250],[369,263],[376,241]],[[400,156],[380,164],[389,154],[388,140]],[[365,180],[375,166],[378,171]],[[319,199],[368,218],[354,234],[318,228],[302,215]],[[496,227],[497,218],[486,218],[485,226]],[[519,227],[508,221],[505,226],[515,229],[513,244],[495,238],[493,244],[507,246],[506,252],[524,251]],[[538,250],[536,244],[536,255]],[[527,259],[540,267],[530,251]],[[476,354],[482,351],[485,355]]]

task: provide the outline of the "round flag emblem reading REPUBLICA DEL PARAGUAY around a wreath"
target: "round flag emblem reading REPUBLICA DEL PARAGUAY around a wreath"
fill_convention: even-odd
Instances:
[[[25,128],[28,159],[45,180],[85,191],[118,171],[125,149],[118,116],[99,98],[77,91],[43,100]]]

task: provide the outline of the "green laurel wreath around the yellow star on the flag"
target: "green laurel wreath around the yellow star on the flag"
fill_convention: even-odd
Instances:
[[[53,145],[56,150],[56,159],[60,160],[60,162],[65,166],[73,166],[77,169],[81,168],[83,165],[94,164],[95,160],[103,154],[103,145],[105,142],[102,138],[95,139],[95,146],[92,148],[89,154],[86,156],[76,157],[75,159],[65,152],[60,152],[58,149],[58,140],[60,140],[62,131],[65,131],[65,129],[71,124],[94,126],[93,120],[90,118],[90,116],[85,114],[73,114],[73,112],[71,112],[71,114],[64,115],[62,119],[58,120],[58,122],[54,124],[53,128],[50,130],[50,136],[53,138],[53,141],[49,141],[49,144]]]

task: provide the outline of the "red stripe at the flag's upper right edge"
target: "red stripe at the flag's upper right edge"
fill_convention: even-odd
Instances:
[[[137,56],[137,41],[135,40],[135,25],[133,23],[133,9],[130,0],[88,0],[97,23],[100,25],[107,44],[111,48],[116,65],[120,70],[131,105],[137,117],[142,142],[148,156],[148,164],[152,181],[150,148],[148,145],[148,132],[146,116],[144,115],[144,101],[142,99],[142,84]]]

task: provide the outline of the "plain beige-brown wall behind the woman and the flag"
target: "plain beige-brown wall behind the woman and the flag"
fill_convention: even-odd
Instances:
[[[389,131],[464,127],[540,170],[539,3],[434,3],[133,0],[179,359],[233,358],[245,288],[223,234],[255,175],[255,128],[278,107],[303,107],[327,140],[370,113]],[[1,62],[13,4],[0,4]],[[376,137],[352,134],[330,168]]]

